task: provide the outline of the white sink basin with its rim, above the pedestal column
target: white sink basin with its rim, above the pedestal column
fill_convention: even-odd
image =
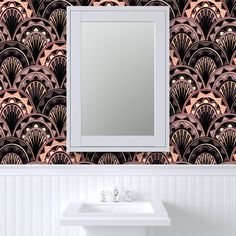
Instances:
[[[62,213],[67,226],[169,226],[162,202],[69,202]]]

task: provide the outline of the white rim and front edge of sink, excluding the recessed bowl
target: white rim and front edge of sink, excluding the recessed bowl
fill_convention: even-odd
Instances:
[[[81,204],[151,204],[152,213],[103,213],[103,212],[79,212]],[[61,225],[67,226],[170,226],[171,221],[162,202],[153,203],[151,201],[133,202],[95,202],[95,201],[70,201],[61,215]]]

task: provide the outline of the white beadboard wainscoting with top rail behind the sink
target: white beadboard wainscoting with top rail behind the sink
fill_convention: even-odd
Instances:
[[[236,235],[236,166],[26,165],[0,167],[0,236],[83,236],[60,227],[61,209],[116,186],[164,202],[172,225],[150,236]]]

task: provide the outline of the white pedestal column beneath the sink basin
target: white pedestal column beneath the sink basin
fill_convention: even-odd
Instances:
[[[145,227],[121,227],[121,226],[100,226],[83,227],[85,236],[147,236],[148,229]]]

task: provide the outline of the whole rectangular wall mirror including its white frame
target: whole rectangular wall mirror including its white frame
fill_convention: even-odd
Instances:
[[[68,151],[168,151],[168,7],[67,13]]]

